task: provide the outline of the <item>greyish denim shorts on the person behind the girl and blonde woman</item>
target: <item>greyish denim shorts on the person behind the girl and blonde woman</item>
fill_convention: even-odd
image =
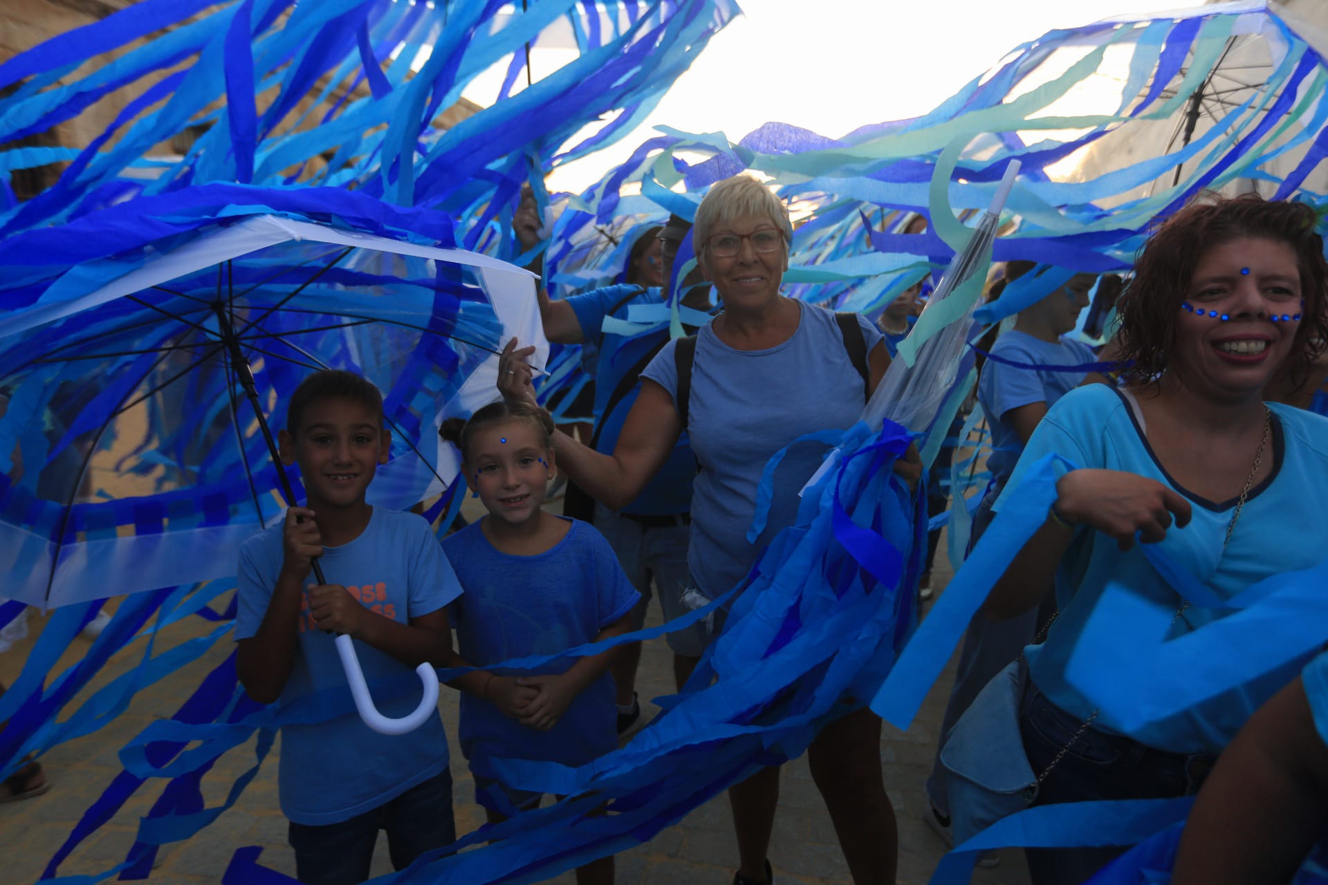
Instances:
[[[618,564],[627,572],[641,601],[632,609],[632,629],[640,630],[645,622],[645,606],[651,601],[651,581],[660,593],[664,620],[672,621],[691,612],[683,605],[688,588],[687,547],[692,528],[681,519],[675,525],[643,525],[600,503],[595,504],[595,528],[600,531],[618,556]],[[695,624],[685,630],[665,633],[664,640],[673,654],[699,658],[709,644],[704,625]]]

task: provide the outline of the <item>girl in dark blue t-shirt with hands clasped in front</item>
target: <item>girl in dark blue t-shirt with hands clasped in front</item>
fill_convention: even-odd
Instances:
[[[440,431],[489,513],[442,541],[463,593],[452,604],[457,666],[551,655],[627,633],[640,598],[603,536],[544,512],[556,468],[554,421],[529,403],[494,402]],[[453,685],[461,698],[461,750],[490,823],[539,807],[540,795],[505,783],[494,759],[576,767],[618,746],[614,681],[620,649],[556,658],[534,674],[474,670]],[[576,869],[578,885],[612,885],[614,857]]]

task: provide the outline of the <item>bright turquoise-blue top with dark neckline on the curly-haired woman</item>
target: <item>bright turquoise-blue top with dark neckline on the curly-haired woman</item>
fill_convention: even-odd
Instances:
[[[1201,584],[1230,598],[1272,575],[1307,569],[1323,561],[1328,527],[1323,499],[1328,495],[1328,419],[1300,409],[1272,409],[1274,474],[1250,490],[1226,551],[1222,548],[1236,502],[1215,503],[1178,486],[1157,462],[1123,394],[1106,385],[1089,385],[1066,394],[1033,431],[1015,475],[996,502],[1017,494],[1023,471],[1049,452],[1080,467],[1120,470],[1167,483],[1185,495],[1193,516],[1185,528],[1171,528],[1157,544]],[[1118,594],[1142,597],[1147,616],[1130,606],[1127,625],[1109,614]],[[1147,563],[1139,545],[1121,552],[1101,532],[1078,528],[1056,575],[1060,617],[1040,646],[1029,646],[1029,675],[1058,707],[1086,719],[1093,706],[1064,679],[1070,657],[1093,659],[1094,647],[1120,647],[1122,629],[1139,636],[1178,636],[1208,624],[1219,612],[1190,606],[1177,618],[1179,594]],[[1150,724],[1129,736],[1170,752],[1220,752],[1246,719],[1278,689],[1287,685],[1305,658],[1218,695],[1185,714]],[[1093,723],[1126,734],[1102,714]]]

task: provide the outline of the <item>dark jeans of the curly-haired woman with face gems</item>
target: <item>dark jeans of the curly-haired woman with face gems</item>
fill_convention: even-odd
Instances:
[[[1037,775],[1065,750],[1038,784],[1035,805],[1191,796],[1216,759],[1208,754],[1154,750],[1093,727],[1080,734],[1084,720],[1048,701],[1032,682],[1024,693],[1019,726],[1028,764]],[[1125,848],[1037,848],[1024,853],[1033,885],[1078,885],[1125,853]]]

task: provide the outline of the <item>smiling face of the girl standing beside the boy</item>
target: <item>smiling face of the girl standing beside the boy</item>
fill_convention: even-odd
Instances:
[[[509,418],[475,429],[462,470],[491,516],[519,524],[539,516],[554,455],[534,422]]]

